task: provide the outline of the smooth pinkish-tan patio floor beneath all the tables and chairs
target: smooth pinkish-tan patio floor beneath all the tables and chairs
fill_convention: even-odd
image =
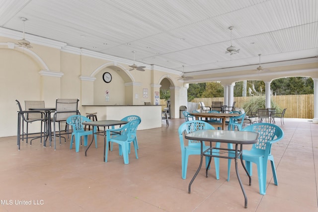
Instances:
[[[269,169],[266,195],[259,194],[256,167],[248,186],[239,164],[248,197],[244,209],[234,165],[226,180],[226,159],[220,159],[219,180],[213,168],[208,178],[201,170],[187,193],[199,156],[190,156],[183,180],[177,129],[184,121],[169,122],[169,127],[162,122],[161,128],[138,131],[139,159],[132,151],[128,165],[117,147],[103,162],[102,137],[87,157],[84,146],[79,152],[69,149],[70,141],[56,151],[39,141],[22,143],[18,151],[16,137],[0,138],[0,212],[318,212],[318,124],[285,120],[285,137],[272,148],[279,185]]]

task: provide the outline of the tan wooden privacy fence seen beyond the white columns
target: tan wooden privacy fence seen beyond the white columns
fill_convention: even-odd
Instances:
[[[241,107],[245,102],[249,101],[251,96],[247,97],[234,97],[236,101],[235,106]],[[211,106],[212,101],[224,101],[223,97],[216,98],[195,98],[192,102],[204,102],[206,106]],[[271,96],[271,101],[281,109],[287,108],[285,116],[286,118],[301,118],[301,119],[313,119],[314,118],[314,94],[304,95],[287,95],[287,96]],[[232,105],[231,105],[232,106]],[[265,107],[265,105],[264,105]],[[316,105],[316,107],[318,107]]]

